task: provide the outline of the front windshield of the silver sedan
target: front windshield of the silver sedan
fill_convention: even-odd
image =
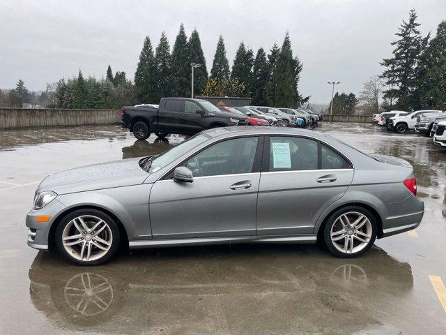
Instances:
[[[172,149],[164,151],[162,154],[153,157],[151,165],[148,165],[148,167],[144,170],[149,173],[157,172],[157,170],[166,167],[173,161],[176,161],[178,158],[183,156],[183,154],[185,154],[187,151],[194,149],[194,147],[199,146],[201,143],[206,142],[209,139],[210,136],[206,134],[197,134],[189,137],[187,140],[181,142]],[[144,159],[146,158],[143,158],[143,160]],[[141,165],[141,168],[144,168],[143,165]]]

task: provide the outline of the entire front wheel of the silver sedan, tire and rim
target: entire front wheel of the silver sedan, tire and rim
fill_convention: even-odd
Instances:
[[[100,265],[116,253],[119,230],[109,215],[96,209],[72,211],[56,228],[59,252],[77,265]]]

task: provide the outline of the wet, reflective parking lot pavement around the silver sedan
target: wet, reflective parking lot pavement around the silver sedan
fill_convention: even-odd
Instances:
[[[123,251],[77,267],[26,246],[40,180],[157,154],[183,137],[138,141],[119,126],[1,131],[0,333],[446,334],[446,150],[371,124],[318,130],[409,161],[425,204],[420,227],[350,260],[318,246],[249,244]]]

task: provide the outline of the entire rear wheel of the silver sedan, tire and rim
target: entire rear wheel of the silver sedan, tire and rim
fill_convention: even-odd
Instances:
[[[376,220],[362,207],[349,206],[335,211],[323,230],[325,245],[341,258],[353,258],[369,249],[376,239]]]

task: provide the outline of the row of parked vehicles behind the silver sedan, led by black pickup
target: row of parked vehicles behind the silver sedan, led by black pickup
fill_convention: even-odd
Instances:
[[[323,114],[310,110],[266,106],[216,106],[192,98],[162,98],[159,105],[144,104],[121,108],[122,126],[134,137],[146,140],[182,134],[194,135],[210,128],[224,126],[316,127]]]

